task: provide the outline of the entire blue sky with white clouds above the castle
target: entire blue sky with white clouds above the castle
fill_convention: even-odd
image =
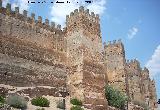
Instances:
[[[93,0],[92,4],[84,4],[83,0],[68,0],[73,2],[70,4],[48,3],[51,0],[45,0],[45,4],[28,4],[27,1],[4,0],[3,5],[11,2],[12,8],[19,6],[21,12],[26,9],[29,15],[34,12],[36,17],[48,18],[62,26],[66,14],[80,5],[100,14],[103,42],[122,39],[126,58],[137,58],[142,67],[149,68],[160,98],[160,0]]]

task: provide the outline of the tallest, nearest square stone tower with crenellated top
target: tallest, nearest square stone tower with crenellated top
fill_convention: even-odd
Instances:
[[[106,110],[105,70],[99,15],[80,7],[66,16],[68,86],[70,96],[82,100],[85,108]]]

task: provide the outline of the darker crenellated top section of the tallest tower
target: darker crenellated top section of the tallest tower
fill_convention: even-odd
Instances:
[[[94,12],[89,12],[89,9],[84,9],[83,6],[75,9],[70,15],[66,16],[67,35],[74,32],[82,32],[92,41],[97,43],[102,42],[99,15]]]

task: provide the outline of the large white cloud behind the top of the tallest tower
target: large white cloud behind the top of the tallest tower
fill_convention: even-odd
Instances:
[[[106,9],[106,0],[93,0],[91,4],[85,4],[84,0],[84,2],[82,0],[70,0],[70,3],[68,4],[66,3],[67,0],[61,1],[64,1],[65,3],[58,4],[55,1],[51,7],[51,20],[63,26],[65,24],[66,15],[69,15],[72,11],[74,11],[74,9],[79,8],[81,5],[89,9],[90,12],[93,11],[100,15],[102,15]]]

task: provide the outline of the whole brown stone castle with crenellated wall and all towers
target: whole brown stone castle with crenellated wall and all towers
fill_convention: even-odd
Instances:
[[[84,108],[107,110],[104,86],[112,85],[130,101],[157,107],[154,80],[137,60],[128,61],[121,40],[102,44],[98,14],[79,7],[66,16],[66,27],[0,0],[0,94],[19,93],[30,98],[69,97]]]

